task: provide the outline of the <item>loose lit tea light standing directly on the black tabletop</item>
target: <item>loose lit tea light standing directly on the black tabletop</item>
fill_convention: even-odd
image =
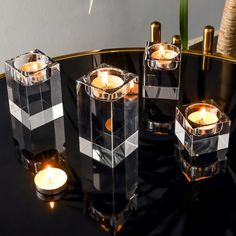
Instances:
[[[67,175],[59,168],[48,166],[46,169],[39,171],[34,183],[37,190],[45,195],[55,195],[66,188]]]

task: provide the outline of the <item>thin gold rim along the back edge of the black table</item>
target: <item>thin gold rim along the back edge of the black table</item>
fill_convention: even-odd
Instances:
[[[116,52],[142,52],[144,51],[143,47],[137,47],[137,48],[114,48],[114,49],[101,49],[101,50],[91,50],[91,51],[84,51],[84,52],[77,52],[72,54],[65,54],[62,56],[53,57],[52,59],[60,62],[62,60],[68,60],[76,57],[82,57],[82,56],[89,56],[94,54],[105,54],[105,53],[116,53]],[[226,56],[222,55],[220,53],[214,53],[214,54],[204,54],[202,51],[194,51],[194,50],[183,50],[182,54],[189,54],[189,55],[196,55],[196,56],[206,56],[209,58],[214,59],[221,59],[224,61],[229,62],[235,62],[236,63],[236,57]],[[0,74],[0,80],[5,78],[5,73]]]

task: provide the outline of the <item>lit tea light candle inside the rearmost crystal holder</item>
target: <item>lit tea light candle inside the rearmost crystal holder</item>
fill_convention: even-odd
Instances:
[[[164,45],[164,44],[163,44]],[[178,53],[171,49],[165,49],[163,45],[151,54],[151,58],[157,60],[159,68],[168,68],[172,60],[178,56]]]

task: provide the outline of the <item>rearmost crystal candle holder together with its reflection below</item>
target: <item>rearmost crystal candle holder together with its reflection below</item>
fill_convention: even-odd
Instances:
[[[179,100],[181,50],[169,43],[148,42],[144,53],[142,111],[148,131],[173,133]]]

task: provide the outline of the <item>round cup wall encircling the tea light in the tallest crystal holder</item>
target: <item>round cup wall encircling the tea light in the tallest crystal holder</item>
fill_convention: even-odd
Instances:
[[[114,77],[119,78],[122,80],[122,83],[119,84],[119,86],[115,86],[113,88],[109,88],[109,86],[106,88],[104,87],[98,87],[94,85],[94,80],[100,79],[100,74],[101,73],[108,73],[108,77]],[[120,69],[116,68],[109,68],[109,67],[104,67],[104,68],[99,68],[97,70],[92,71],[91,73],[88,74],[88,78],[90,80],[90,83],[92,85],[91,91],[87,91],[87,93],[99,100],[103,101],[112,101],[112,100],[118,100],[122,98],[125,95],[125,86],[124,85],[124,73]]]

